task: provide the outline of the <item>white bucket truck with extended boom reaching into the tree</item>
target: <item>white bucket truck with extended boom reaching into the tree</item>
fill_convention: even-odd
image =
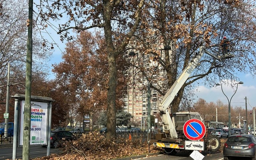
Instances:
[[[159,112],[163,122],[163,133],[157,133],[155,139],[150,140],[150,144],[162,147],[166,153],[175,154],[181,149],[198,151],[210,149],[210,151],[217,151],[220,148],[220,139],[215,135],[208,135],[207,128],[203,124],[203,119],[198,112],[172,113],[171,108],[172,100],[187,81],[187,78],[189,78],[195,67],[198,66],[204,53],[214,57],[218,61],[224,61],[234,57],[233,54],[220,55],[217,52],[214,52],[215,54],[212,52],[214,50],[211,48],[201,46],[199,52],[182,71],[181,75],[167,91],[159,104]],[[199,129],[197,129],[198,126]]]

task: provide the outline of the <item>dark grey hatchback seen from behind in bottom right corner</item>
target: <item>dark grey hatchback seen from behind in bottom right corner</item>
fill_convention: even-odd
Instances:
[[[251,157],[255,160],[256,136],[254,135],[232,135],[223,147],[224,160],[230,157]]]

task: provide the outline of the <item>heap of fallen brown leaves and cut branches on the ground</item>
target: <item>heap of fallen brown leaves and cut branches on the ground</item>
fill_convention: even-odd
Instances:
[[[106,139],[99,134],[83,134],[74,141],[63,143],[58,155],[52,154],[47,157],[35,158],[32,160],[109,160],[120,157],[147,155],[147,141],[141,137],[119,139]],[[159,147],[150,145],[150,153],[162,151]]]

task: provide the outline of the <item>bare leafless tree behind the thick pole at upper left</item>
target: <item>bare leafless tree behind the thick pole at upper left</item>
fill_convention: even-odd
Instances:
[[[0,103],[6,101],[8,63],[10,69],[10,95],[24,93],[25,71],[26,71],[26,46],[28,15],[27,1],[4,0],[0,2]],[[44,50],[41,41],[33,34],[33,68],[32,76],[46,77],[48,69],[45,65],[49,60],[49,50]],[[12,104],[10,104],[12,105]],[[1,106],[3,108],[4,106]],[[2,115],[0,115],[2,116]]]

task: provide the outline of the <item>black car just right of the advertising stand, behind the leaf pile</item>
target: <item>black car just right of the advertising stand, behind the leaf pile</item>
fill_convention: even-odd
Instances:
[[[51,147],[59,148],[65,140],[74,140],[76,137],[69,131],[51,131]]]

